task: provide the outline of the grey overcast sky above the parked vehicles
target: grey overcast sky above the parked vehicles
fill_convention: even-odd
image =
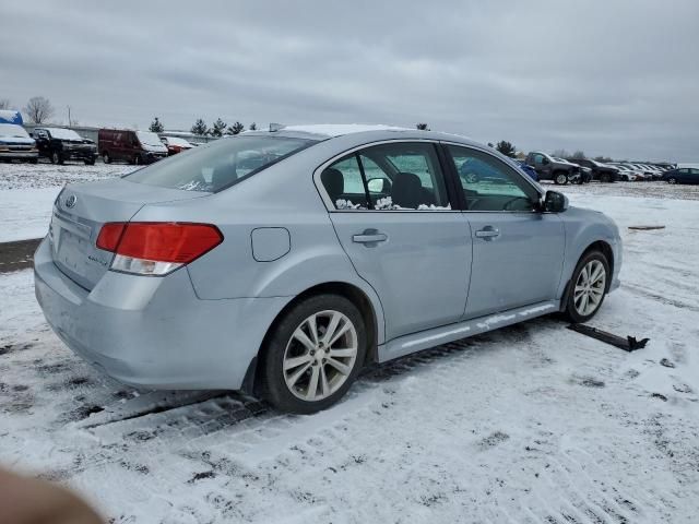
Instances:
[[[0,1],[0,98],[57,122],[428,122],[699,160],[697,0]]]

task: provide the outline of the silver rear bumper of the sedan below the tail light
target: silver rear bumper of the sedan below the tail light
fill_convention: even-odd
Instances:
[[[240,389],[288,298],[200,300],[186,269],[166,277],[108,271],[88,291],[54,264],[45,239],[35,293],[56,334],[110,377],[154,389]]]

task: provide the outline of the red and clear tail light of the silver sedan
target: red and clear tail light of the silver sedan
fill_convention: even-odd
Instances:
[[[211,224],[111,222],[97,237],[97,247],[116,253],[111,269],[163,276],[193,262],[223,241]]]

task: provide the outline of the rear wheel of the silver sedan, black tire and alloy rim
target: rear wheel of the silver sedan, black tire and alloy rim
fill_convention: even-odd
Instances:
[[[283,412],[325,409],[355,381],[366,352],[366,327],[352,301],[340,295],[306,298],[268,334],[260,366],[263,396]]]

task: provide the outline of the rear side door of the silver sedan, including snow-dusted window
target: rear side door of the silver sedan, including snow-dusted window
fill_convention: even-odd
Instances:
[[[318,174],[337,238],[381,300],[387,340],[455,322],[465,307],[471,235],[436,147],[374,145]]]

